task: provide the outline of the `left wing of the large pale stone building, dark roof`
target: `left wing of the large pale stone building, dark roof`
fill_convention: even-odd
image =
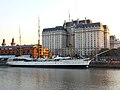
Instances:
[[[53,54],[62,55],[62,50],[66,48],[67,30],[62,26],[46,28],[42,32],[43,47],[47,47]]]

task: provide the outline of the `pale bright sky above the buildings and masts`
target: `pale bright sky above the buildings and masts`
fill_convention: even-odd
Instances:
[[[64,20],[91,19],[108,25],[110,35],[120,38],[119,0],[0,0],[0,45],[10,45],[12,38],[21,44],[37,44],[40,30],[62,26]],[[41,37],[42,38],[42,37]],[[41,43],[42,44],[42,43]]]

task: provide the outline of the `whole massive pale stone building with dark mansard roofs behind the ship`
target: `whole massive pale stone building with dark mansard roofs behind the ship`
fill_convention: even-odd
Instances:
[[[101,48],[110,48],[109,29],[102,23],[91,20],[64,22],[63,26],[46,28],[42,32],[43,46],[53,54],[95,55]],[[71,48],[70,48],[71,47]]]

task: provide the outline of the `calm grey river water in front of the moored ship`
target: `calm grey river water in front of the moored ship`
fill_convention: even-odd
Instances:
[[[0,90],[120,90],[120,69],[0,67]]]

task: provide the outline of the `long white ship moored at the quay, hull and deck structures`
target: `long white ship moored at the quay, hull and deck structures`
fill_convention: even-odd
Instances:
[[[72,59],[70,57],[56,57],[53,59],[13,57],[7,60],[7,65],[14,67],[87,68],[90,61],[86,59]]]

